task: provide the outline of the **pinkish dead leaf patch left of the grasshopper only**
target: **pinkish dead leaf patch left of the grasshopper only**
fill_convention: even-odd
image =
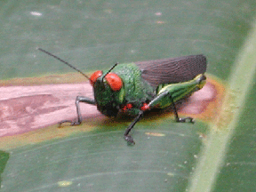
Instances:
[[[0,136],[29,132],[76,118],[77,95],[92,98],[92,86],[85,84],[44,84],[0,88]],[[81,105],[86,116],[99,116],[95,106]]]

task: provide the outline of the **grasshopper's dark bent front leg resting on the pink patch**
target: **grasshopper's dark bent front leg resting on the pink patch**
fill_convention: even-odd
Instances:
[[[95,100],[86,98],[84,96],[77,96],[76,97],[76,112],[77,112],[77,121],[70,121],[70,120],[63,120],[59,123],[59,127],[63,123],[70,123],[71,126],[78,125],[82,123],[82,116],[81,116],[81,110],[79,107],[79,102],[84,102],[92,105],[96,105]]]

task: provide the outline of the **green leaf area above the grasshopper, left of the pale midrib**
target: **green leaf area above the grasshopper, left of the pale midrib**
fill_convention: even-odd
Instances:
[[[84,71],[204,53],[208,73],[227,79],[254,11],[254,1],[1,1],[0,78],[73,72],[42,47]]]

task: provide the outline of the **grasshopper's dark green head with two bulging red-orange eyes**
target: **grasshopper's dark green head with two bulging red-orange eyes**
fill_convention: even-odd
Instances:
[[[98,110],[105,116],[116,116],[122,102],[119,97],[123,87],[122,79],[115,73],[103,76],[103,72],[99,70],[92,74],[90,82]]]

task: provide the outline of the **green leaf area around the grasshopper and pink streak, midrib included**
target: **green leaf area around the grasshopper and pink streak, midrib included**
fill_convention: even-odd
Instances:
[[[122,138],[127,122],[20,148],[0,147],[5,151],[0,190],[253,191],[255,9],[254,0],[0,1],[1,80],[72,71],[37,47],[84,72],[117,61],[204,53],[207,73],[235,89],[232,105],[238,106],[229,106],[236,118],[220,116],[221,125],[175,124],[173,116],[141,121],[132,148]]]

